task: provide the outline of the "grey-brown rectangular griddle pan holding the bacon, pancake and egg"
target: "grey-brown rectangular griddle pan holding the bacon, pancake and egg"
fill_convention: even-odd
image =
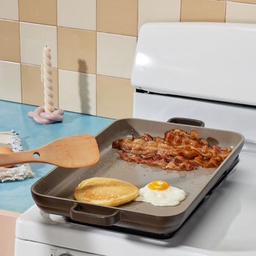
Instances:
[[[178,128],[198,132],[200,138],[207,138],[210,145],[233,148],[231,154],[217,168],[200,168],[192,171],[162,170],[159,167],[124,162],[112,148],[113,140],[132,135],[148,133],[164,137],[167,130]],[[88,225],[100,227],[121,227],[160,236],[173,233],[189,217],[201,200],[233,165],[244,144],[243,135],[219,129],[195,127],[127,118],[114,121],[96,136],[100,159],[96,165],[78,169],[55,167],[31,187],[37,206],[50,214],[59,214]],[[155,179],[163,179],[170,185],[184,189],[187,198],[178,206],[152,206],[149,203],[130,202],[118,207],[95,206],[74,199],[75,187],[86,178],[94,176],[118,178],[129,181],[138,188]]]

